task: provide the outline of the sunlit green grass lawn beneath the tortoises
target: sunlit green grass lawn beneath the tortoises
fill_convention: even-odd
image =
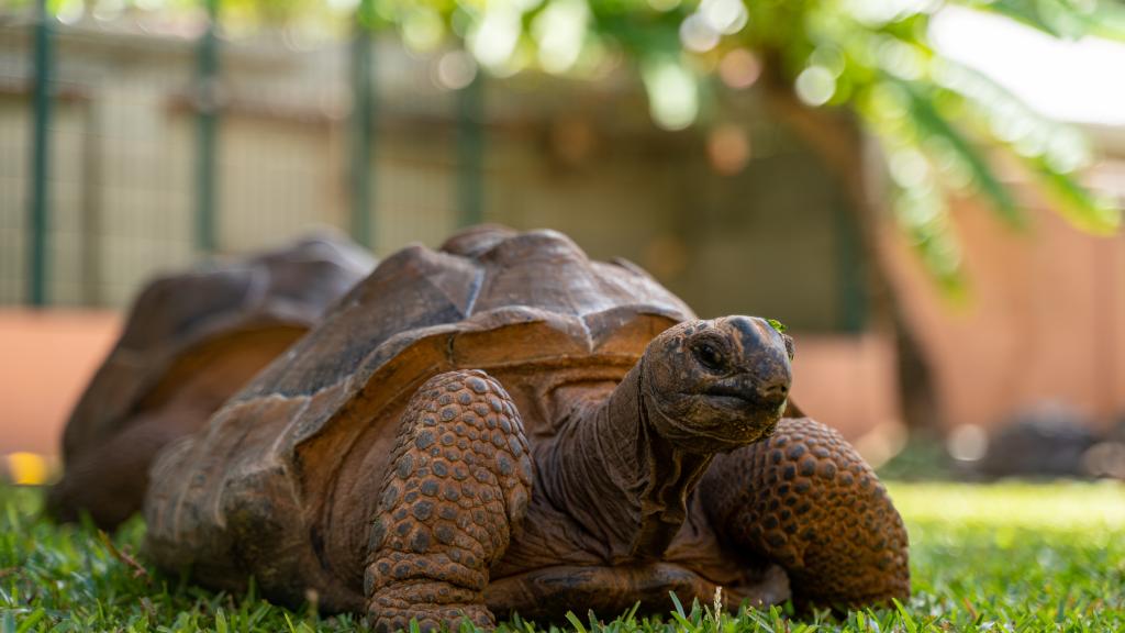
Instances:
[[[914,597],[898,609],[820,614],[785,609],[714,618],[684,605],[642,619],[575,605],[579,632],[1073,631],[1125,632],[1125,487],[898,483],[910,528]],[[33,489],[0,488],[0,633],[25,631],[345,631],[358,616],[320,617],[253,591],[215,594],[133,562],[144,526],[111,541],[89,526],[38,517]],[[529,630],[519,621],[506,624]]]

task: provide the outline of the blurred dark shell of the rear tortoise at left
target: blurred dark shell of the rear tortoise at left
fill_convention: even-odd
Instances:
[[[137,414],[162,407],[232,345],[280,353],[374,266],[346,240],[320,235],[153,279],[71,413],[64,460],[73,462]],[[227,395],[235,389],[228,386]]]

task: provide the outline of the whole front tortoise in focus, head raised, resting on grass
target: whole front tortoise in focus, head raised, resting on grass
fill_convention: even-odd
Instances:
[[[718,587],[731,607],[904,599],[883,487],[837,433],[782,419],[791,355],[556,232],[410,247],[163,453],[147,547],[377,630]]]

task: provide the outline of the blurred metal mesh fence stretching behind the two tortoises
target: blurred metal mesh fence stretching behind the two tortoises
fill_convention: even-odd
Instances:
[[[466,81],[461,68],[451,82],[454,51],[418,55],[380,37],[357,57],[348,39],[222,29],[208,80],[200,29],[94,18],[52,24],[43,73],[35,20],[0,16],[0,304],[35,303],[42,279],[47,304],[122,307],[159,271],[316,228],[387,255],[498,221],[559,229],[592,257],[637,261],[704,315],[862,328],[845,196],[753,96],[721,127],[745,141],[731,168],[706,128],[655,130],[628,80]],[[43,81],[53,108],[37,234]]]

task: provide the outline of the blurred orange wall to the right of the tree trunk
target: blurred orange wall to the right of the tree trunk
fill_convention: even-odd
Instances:
[[[981,203],[954,208],[972,298],[951,305],[888,228],[884,261],[932,359],[946,427],[992,426],[1062,401],[1099,427],[1125,413],[1125,234],[1047,211],[1023,233]]]

